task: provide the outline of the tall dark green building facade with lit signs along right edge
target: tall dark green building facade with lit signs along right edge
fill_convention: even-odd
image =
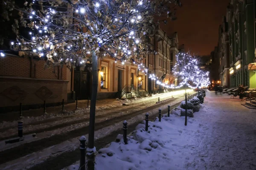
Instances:
[[[219,80],[225,87],[256,88],[255,0],[230,0],[219,27]]]

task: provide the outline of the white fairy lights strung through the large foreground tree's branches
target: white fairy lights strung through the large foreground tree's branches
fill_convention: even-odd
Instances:
[[[104,49],[104,53],[101,54],[104,57],[113,57],[115,59],[115,62],[121,62],[122,65],[125,65],[127,63],[132,63],[134,65],[137,65],[138,70],[141,72],[145,72],[145,75],[147,75],[148,68],[140,63],[140,60],[135,61],[134,55],[138,53],[139,45],[141,43],[140,37],[138,36],[137,29],[139,28],[139,24],[143,21],[143,12],[149,9],[149,2],[144,3],[145,0],[141,0],[137,2],[137,5],[134,6],[134,9],[131,9],[130,11],[127,11],[129,14],[129,17],[125,18],[125,15],[119,15],[116,13],[111,18],[111,23],[114,26],[121,25],[121,23],[124,23],[124,20],[128,20],[126,28],[126,34],[123,34],[122,36],[119,36],[121,34],[120,32],[117,32],[116,35],[119,36],[119,42],[118,45],[113,46],[113,41],[111,40],[111,29],[109,28],[103,28],[103,30],[97,32],[95,34],[82,34],[82,39],[86,39],[87,42],[84,42],[84,40],[78,40],[79,38],[76,36],[73,36],[74,41],[81,41],[83,42],[83,45],[78,45],[78,43],[72,43],[70,42],[69,36],[66,36],[71,34],[70,30],[64,31],[63,28],[61,28],[60,25],[58,25],[58,17],[60,17],[60,14],[63,13],[63,11],[58,11],[58,7],[55,6],[44,6],[45,13],[42,14],[37,10],[35,4],[37,4],[38,0],[32,0],[32,8],[29,9],[29,11],[24,12],[27,14],[26,20],[28,23],[33,23],[33,27],[30,31],[28,31],[29,38],[25,39],[21,42],[21,40],[12,41],[10,42],[12,50],[16,51],[28,51],[31,52],[33,55],[37,55],[40,58],[47,58],[51,59],[54,58],[57,59],[58,62],[71,62],[76,63],[80,65],[84,65],[88,62],[90,62],[90,55],[92,54],[92,48],[88,48],[89,41],[92,41],[93,38],[96,38],[97,45]],[[145,1],[147,2],[147,1]],[[103,1],[94,2],[94,12],[95,14],[92,14],[92,16],[95,16],[98,14],[98,11],[102,10],[102,8],[106,8],[106,6],[110,6],[111,3],[107,4]],[[81,22],[85,23],[87,28],[90,30],[90,32],[93,32],[93,28],[90,22],[90,20],[87,20],[84,16],[88,15],[89,8],[87,5],[85,5],[84,0],[80,0],[76,6],[73,6],[74,10],[74,17]],[[99,26],[99,23],[97,23]],[[97,25],[94,23],[94,26]],[[64,31],[63,34],[57,35],[53,34],[52,32],[55,30],[60,29],[61,31]],[[59,31],[58,33],[60,33]],[[63,36],[63,37],[61,37]],[[92,36],[92,37],[91,37]],[[61,46],[61,43],[66,43],[64,48],[59,50],[60,48],[58,45]],[[131,45],[132,42],[132,45]],[[130,43],[130,44],[129,44]],[[24,50],[25,49],[25,50]],[[61,51],[61,52],[60,52]],[[77,52],[80,51],[81,54],[84,54],[83,57],[78,56]],[[67,55],[69,55],[67,57]],[[0,52],[0,56],[4,57],[6,55],[5,51]]]

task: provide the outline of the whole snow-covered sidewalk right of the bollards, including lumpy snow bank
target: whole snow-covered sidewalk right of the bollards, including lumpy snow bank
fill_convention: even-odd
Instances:
[[[209,92],[187,126],[176,115],[149,122],[150,133],[140,124],[127,145],[99,150],[96,170],[255,170],[256,113],[240,103]]]

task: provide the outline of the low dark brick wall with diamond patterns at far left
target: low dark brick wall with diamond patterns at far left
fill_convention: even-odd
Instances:
[[[40,106],[44,100],[48,104],[67,101],[66,66],[44,68],[44,63],[29,57],[0,57],[1,112],[12,110],[20,102],[23,106]]]

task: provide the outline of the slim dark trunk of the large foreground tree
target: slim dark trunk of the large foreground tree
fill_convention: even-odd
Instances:
[[[92,52],[92,75],[93,75],[93,85],[92,94],[90,102],[90,123],[89,123],[89,135],[88,135],[88,148],[94,148],[94,126],[95,126],[95,110],[96,110],[96,97],[98,91],[98,57],[95,51]],[[93,155],[93,154],[92,154]],[[88,160],[89,170],[94,170],[94,158]]]

